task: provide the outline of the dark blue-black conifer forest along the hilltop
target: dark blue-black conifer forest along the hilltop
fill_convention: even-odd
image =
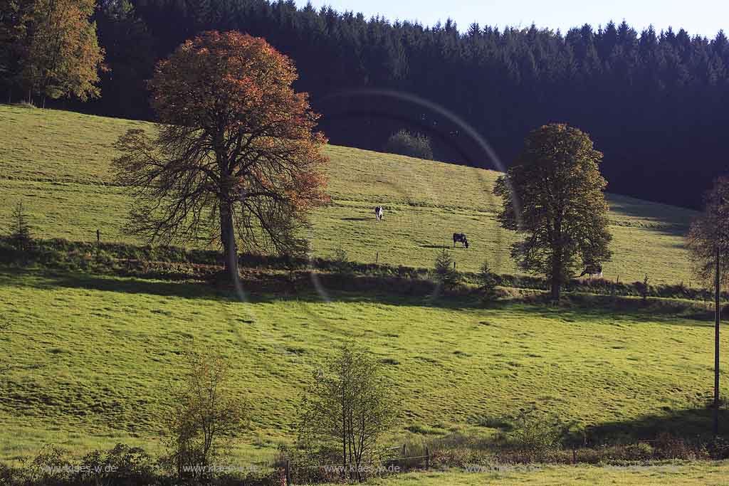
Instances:
[[[429,136],[438,159],[483,164],[486,154],[452,119],[356,91],[397,90],[444,106],[507,163],[540,125],[585,130],[604,152],[611,192],[696,206],[726,169],[722,32],[709,40],[608,23],[566,34],[477,24],[459,33],[450,21],[426,28],[268,0],[101,0],[95,20],[111,69],[102,74],[102,98],[81,109],[98,114],[150,117],[144,79],[155,60],[199,31],[236,29],[295,60],[295,87],[311,93],[334,144],[381,149],[405,128]]]

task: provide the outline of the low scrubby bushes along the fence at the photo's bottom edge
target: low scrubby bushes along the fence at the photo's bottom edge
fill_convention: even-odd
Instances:
[[[706,442],[687,442],[671,434],[660,434],[650,442],[632,444],[607,444],[597,447],[569,447],[564,441],[551,439],[544,444],[533,441],[520,442],[515,435],[505,441],[478,441],[461,434],[450,434],[427,443],[406,444],[408,457],[394,459],[399,471],[424,469],[471,468],[480,470],[502,469],[509,464],[593,464],[596,466],[650,464],[657,460],[724,460],[729,458],[729,442],[712,439]],[[536,447],[535,447],[536,446]],[[542,447],[543,446],[543,447]],[[290,452],[290,451],[284,451]],[[340,476],[312,466],[308,460],[295,455],[289,458],[290,471],[295,484],[338,482]],[[279,466],[261,468],[258,471],[217,473],[206,479],[213,486],[280,486],[284,484],[283,460]],[[324,461],[327,462],[327,461]],[[0,485],[4,486],[173,486],[196,485],[181,483],[174,471],[166,469],[139,447],[117,444],[111,450],[94,450],[83,458],[74,460],[68,453],[53,445],[47,445],[23,466],[7,466],[0,463]]]

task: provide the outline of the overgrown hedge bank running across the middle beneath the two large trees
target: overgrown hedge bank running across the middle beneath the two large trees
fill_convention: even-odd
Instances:
[[[222,254],[219,251],[185,249],[175,246],[134,246],[121,243],[82,243],[63,239],[34,240],[26,251],[17,250],[7,238],[0,238],[0,264],[37,265],[55,270],[84,270],[116,275],[138,275],[148,278],[206,278],[219,272]],[[343,257],[297,258],[262,254],[241,254],[242,269],[252,270],[319,270],[326,273],[364,275],[375,278],[429,280],[432,270],[405,265],[351,262]],[[478,285],[477,273],[459,273],[461,280]],[[547,290],[545,278],[529,275],[495,275],[496,285],[515,289]],[[419,286],[419,284],[418,284]],[[708,289],[677,285],[647,285],[643,282],[617,283],[601,278],[573,280],[566,292],[590,294],[664,297],[694,300],[712,298]],[[428,292],[430,290],[427,290]],[[729,294],[722,294],[729,299]]]

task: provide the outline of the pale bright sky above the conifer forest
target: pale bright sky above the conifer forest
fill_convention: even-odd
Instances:
[[[296,0],[303,7],[307,0]],[[685,28],[690,35],[709,38],[718,31],[729,31],[727,0],[311,0],[317,9],[331,6],[340,12],[352,10],[365,16],[381,15],[388,20],[418,20],[432,26],[448,17],[460,31],[474,22],[481,26],[560,29],[585,23],[597,28],[609,20],[628,22],[638,31],[652,25],[656,31],[672,26]],[[729,35],[729,34],[728,34]]]

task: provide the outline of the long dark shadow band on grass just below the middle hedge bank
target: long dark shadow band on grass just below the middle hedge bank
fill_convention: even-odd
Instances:
[[[199,280],[157,280],[144,277],[94,275],[63,270],[5,268],[0,270],[0,286],[31,286],[36,289],[89,289],[125,294],[151,294],[161,297],[208,299],[226,302],[367,302],[408,307],[440,307],[451,310],[483,309],[475,289],[461,287],[439,294],[429,280],[407,276],[354,275],[350,273],[245,271],[241,278],[243,294],[229,284],[213,284]],[[316,275],[316,279],[312,277]],[[577,297],[577,296],[574,296]],[[550,307],[542,297],[522,297],[491,302],[489,310],[529,314],[568,322],[595,321],[597,324],[620,325],[620,320],[660,322],[680,326],[712,326],[705,310],[680,302],[649,299],[643,307],[639,299],[610,296],[585,296],[572,302]],[[706,315],[706,319],[701,319]],[[609,321],[606,321],[609,319]]]

